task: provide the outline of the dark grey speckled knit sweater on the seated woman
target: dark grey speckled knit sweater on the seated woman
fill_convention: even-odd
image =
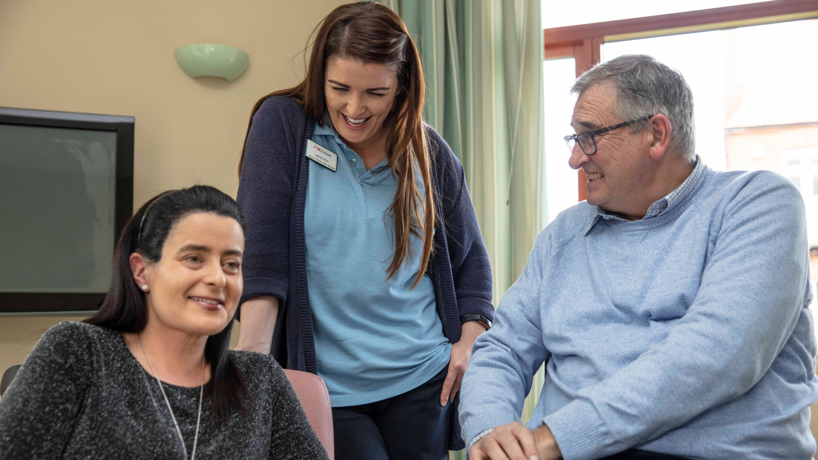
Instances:
[[[267,354],[229,352],[253,401],[228,424],[202,402],[196,459],[326,459],[290,382]],[[199,387],[164,384],[190,455]],[[207,391],[205,391],[207,395]],[[120,332],[80,322],[49,329],[0,399],[0,458],[183,459],[155,378]]]

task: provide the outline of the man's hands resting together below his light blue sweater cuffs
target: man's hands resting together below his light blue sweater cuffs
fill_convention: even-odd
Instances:
[[[548,426],[534,431],[520,422],[497,426],[469,449],[470,460],[556,460],[560,448]]]

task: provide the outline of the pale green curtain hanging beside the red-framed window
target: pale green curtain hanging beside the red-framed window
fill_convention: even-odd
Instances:
[[[542,229],[541,0],[385,0],[420,47],[425,120],[465,168],[492,261],[494,303]],[[523,421],[533,412],[534,377]],[[465,453],[453,454],[465,458]]]

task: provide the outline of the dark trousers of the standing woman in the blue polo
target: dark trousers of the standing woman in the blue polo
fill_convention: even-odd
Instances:
[[[440,392],[447,371],[402,395],[332,408],[335,460],[445,460],[452,403],[441,406]]]

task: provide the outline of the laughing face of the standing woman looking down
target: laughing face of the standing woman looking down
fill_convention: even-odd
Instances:
[[[348,147],[369,147],[386,134],[384,120],[398,94],[398,74],[385,64],[332,58],[324,94],[332,125]]]

